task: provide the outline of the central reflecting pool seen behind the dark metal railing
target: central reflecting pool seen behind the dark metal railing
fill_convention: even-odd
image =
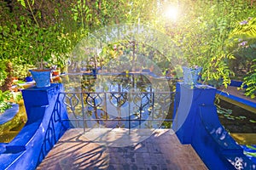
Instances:
[[[175,83],[166,77],[125,72],[68,75],[64,87],[74,127],[171,127]],[[73,95],[76,108],[69,107]]]

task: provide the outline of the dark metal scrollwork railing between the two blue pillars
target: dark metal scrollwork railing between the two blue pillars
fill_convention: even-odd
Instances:
[[[117,127],[125,126],[125,122],[129,122],[129,128],[132,127],[131,122],[137,122],[141,127],[140,123],[145,121],[149,124],[165,121],[166,112],[169,111],[168,108],[174,96],[172,92],[68,92],[62,94],[67,112],[73,115],[71,121],[87,127],[96,126],[90,122],[101,124],[101,126],[113,124]],[[125,114],[124,111],[126,111]],[[118,122],[118,125],[114,125],[115,122]]]

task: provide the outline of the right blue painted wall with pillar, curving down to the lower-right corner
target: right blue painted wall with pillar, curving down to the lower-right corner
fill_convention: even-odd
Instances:
[[[218,120],[216,88],[177,86],[180,102],[172,129],[180,142],[191,144],[209,169],[256,169]]]

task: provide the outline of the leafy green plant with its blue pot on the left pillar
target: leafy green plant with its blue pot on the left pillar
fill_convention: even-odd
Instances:
[[[46,28],[38,27],[33,33],[35,42],[31,43],[31,61],[37,69],[30,70],[37,88],[50,86],[50,73],[52,65],[62,62],[67,58],[67,37],[56,31],[55,26]],[[58,67],[59,65],[56,65]]]

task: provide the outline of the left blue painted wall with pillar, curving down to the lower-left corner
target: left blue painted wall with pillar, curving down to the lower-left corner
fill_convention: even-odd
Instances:
[[[9,144],[0,144],[0,169],[35,169],[69,127],[61,84],[22,90],[27,122]]]

